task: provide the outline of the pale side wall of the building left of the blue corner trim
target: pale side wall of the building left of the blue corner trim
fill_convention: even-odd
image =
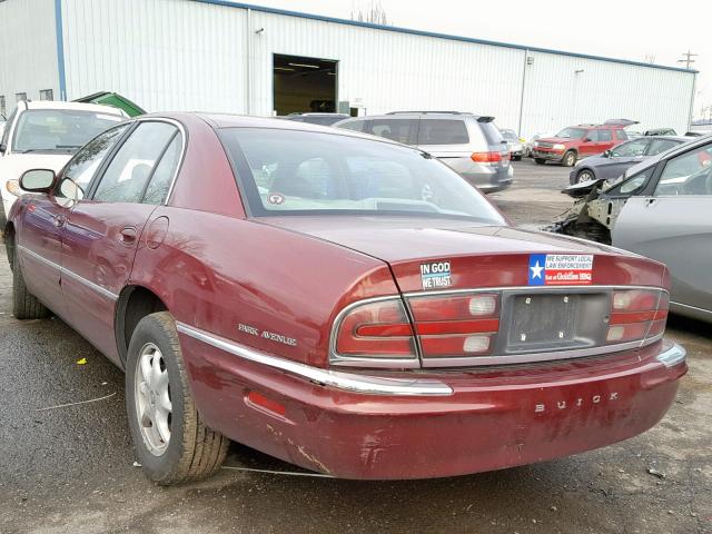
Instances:
[[[6,112],[14,109],[14,95],[38,100],[41,89],[59,99],[53,0],[0,2],[0,96]]]

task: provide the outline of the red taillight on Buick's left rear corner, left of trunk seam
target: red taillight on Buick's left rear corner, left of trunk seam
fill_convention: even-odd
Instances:
[[[366,303],[349,309],[338,324],[335,358],[362,365],[403,360],[417,366],[415,337],[400,298]]]

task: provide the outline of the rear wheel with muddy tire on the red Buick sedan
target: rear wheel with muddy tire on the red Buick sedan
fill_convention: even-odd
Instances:
[[[222,465],[229,439],[202,423],[190,394],[176,324],[168,312],[147,315],[131,335],[126,412],[138,462],[157,484],[205,478]]]

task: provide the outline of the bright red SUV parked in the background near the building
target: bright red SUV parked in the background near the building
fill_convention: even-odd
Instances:
[[[625,125],[627,126],[627,125]],[[624,125],[581,125],[564,128],[556,136],[538,139],[532,147],[532,158],[538,165],[556,161],[573,167],[580,158],[603,154],[627,141]]]

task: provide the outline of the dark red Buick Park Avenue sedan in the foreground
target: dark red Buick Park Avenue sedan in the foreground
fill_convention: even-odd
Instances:
[[[663,265],[510,227],[385,139],[144,116],[22,188],[14,314],[51,309],[126,370],[160,484],[228,438],[347,478],[541,462],[646,431],[686,372]]]

